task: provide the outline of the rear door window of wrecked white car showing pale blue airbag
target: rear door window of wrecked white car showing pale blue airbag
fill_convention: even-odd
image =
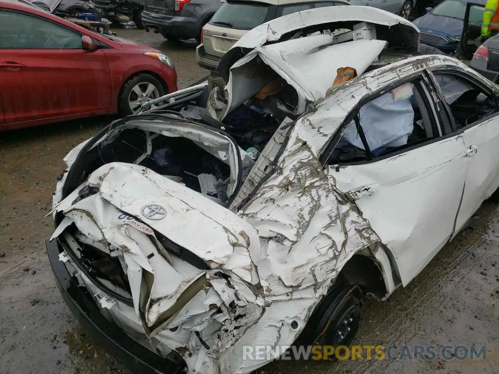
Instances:
[[[441,137],[425,88],[419,78],[362,105],[327,163],[369,161]]]

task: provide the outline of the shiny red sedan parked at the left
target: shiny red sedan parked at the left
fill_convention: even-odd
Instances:
[[[0,0],[0,131],[132,114],[177,90],[168,56],[19,0]]]

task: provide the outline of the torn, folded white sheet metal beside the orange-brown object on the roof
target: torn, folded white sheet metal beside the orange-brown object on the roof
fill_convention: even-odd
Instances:
[[[294,114],[299,115],[305,111],[307,102],[326,96],[339,68],[349,66],[361,75],[387,43],[385,40],[355,40],[331,45],[333,40],[332,34],[320,34],[255,48],[232,66],[226,87],[228,104],[219,120],[267,83],[264,79],[254,79],[251,73],[261,69],[258,66],[261,61],[296,89],[298,105]]]

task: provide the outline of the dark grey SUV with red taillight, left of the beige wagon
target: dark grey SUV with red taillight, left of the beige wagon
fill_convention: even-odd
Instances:
[[[224,0],[145,0],[142,23],[170,41],[195,38]]]

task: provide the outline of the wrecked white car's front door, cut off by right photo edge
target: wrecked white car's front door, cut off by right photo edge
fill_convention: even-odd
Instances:
[[[456,235],[499,187],[498,97],[494,90],[467,72],[434,71],[434,77],[466,145],[468,167]]]

